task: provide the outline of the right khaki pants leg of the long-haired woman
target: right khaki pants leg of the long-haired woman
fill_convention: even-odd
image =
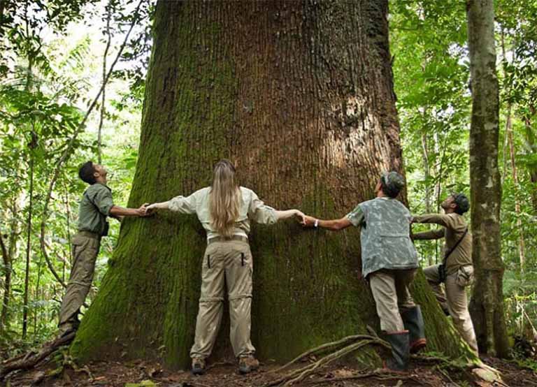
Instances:
[[[252,320],[252,273],[253,262],[248,242],[228,242],[231,246],[226,259],[226,282],[229,291],[229,339],[235,356],[255,352],[250,340]]]

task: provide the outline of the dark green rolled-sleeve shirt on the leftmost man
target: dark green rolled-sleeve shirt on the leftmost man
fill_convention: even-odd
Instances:
[[[90,231],[103,235],[106,231],[106,217],[114,202],[112,190],[106,185],[95,183],[84,192],[78,210],[78,231]]]

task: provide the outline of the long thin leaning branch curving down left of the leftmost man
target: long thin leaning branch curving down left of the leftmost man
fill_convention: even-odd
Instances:
[[[40,244],[41,244],[41,251],[43,253],[43,257],[45,258],[45,261],[47,263],[47,266],[52,272],[52,275],[58,280],[59,283],[63,284],[64,282],[59,277],[58,273],[54,269],[54,266],[52,265],[52,262],[50,261],[50,257],[48,256],[47,249],[45,246],[45,235],[46,235],[46,224],[48,221],[48,206],[50,205],[50,199],[52,198],[52,191],[54,191],[55,184],[59,177],[59,172],[62,169],[63,164],[69,159],[69,156],[71,156],[71,152],[73,151],[73,147],[75,145],[76,138],[78,138],[78,135],[83,132],[85,128],[85,124],[87,122],[87,118],[90,117],[90,114],[94,110],[97,101],[99,101],[99,97],[104,91],[104,88],[106,87],[106,84],[108,83],[108,80],[110,80],[110,76],[112,75],[113,69],[115,65],[117,64],[117,61],[120,59],[121,54],[123,53],[123,50],[125,48],[125,45],[127,45],[127,42],[129,41],[129,36],[131,34],[132,29],[134,28],[134,25],[138,21],[139,16],[139,10],[143,3],[143,0],[140,0],[138,2],[138,6],[136,6],[136,10],[134,10],[134,17],[132,18],[131,25],[129,27],[129,31],[127,31],[127,34],[125,35],[124,41],[122,45],[120,46],[120,50],[117,52],[117,55],[110,66],[110,69],[108,70],[108,73],[106,74],[106,78],[104,78],[103,83],[101,85],[101,88],[99,89],[99,92],[93,99],[90,107],[87,109],[87,112],[85,113],[82,122],[78,125],[77,129],[74,131],[73,136],[69,139],[67,142],[67,146],[62,153],[62,156],[59,157],[59,159],[56,161],[56,166],[54,169],[54,172],[52,173],[52,179],[50,180],[50,184],[48,186],[48,192],[47,196],[45,198],[45,205],[43,206],[43,216],[41,217],[41,237],[39,238]],[[64,285],[65,286],[65,285]]]

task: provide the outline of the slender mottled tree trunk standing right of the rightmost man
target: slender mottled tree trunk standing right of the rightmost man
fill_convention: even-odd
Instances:
[[[470,311],[480,352],[508,356],[500,248],[499,87],[494,3],[493,0],[468,0],[466,6],[472,80],[470,182],[475,265]]]

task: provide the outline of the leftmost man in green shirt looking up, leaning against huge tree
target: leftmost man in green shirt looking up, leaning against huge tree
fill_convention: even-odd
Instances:
[[[73,267],[59,311],[59,336],[78,328],[78,312],[92,286],[95,261],[101,238],[108,235],[106,217],[145,217],[144,204],[140,208],[123,208],[114,205],[112,190],[106,185],[108,171],[99,164],[87,161],[78,170],[81,180],[90,184],[80,200],[78,233],[73,237]]]

